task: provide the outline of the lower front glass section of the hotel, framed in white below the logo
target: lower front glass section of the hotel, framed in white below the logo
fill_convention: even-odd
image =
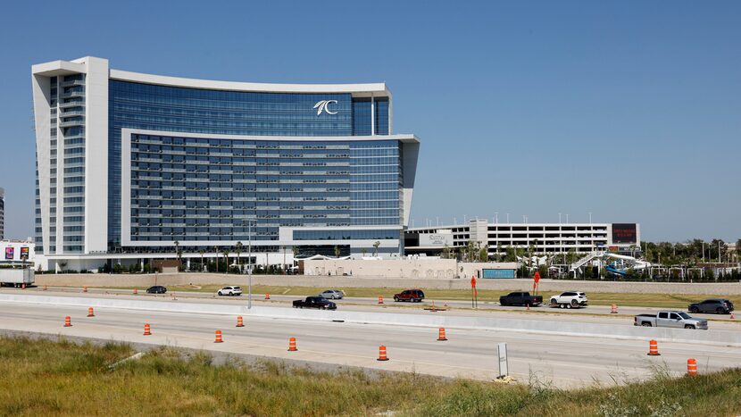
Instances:
[[[278,240],[279,227],[400,227],[401,146],[134,133],[132,243],[247,240],[247,219],[258,241]],[[399,230],[323,230],[319,239],[327,236],[398,239]]]

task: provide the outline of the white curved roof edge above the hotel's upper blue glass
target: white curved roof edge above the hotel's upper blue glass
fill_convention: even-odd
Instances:
[[[386,83],[363,84],[273,84],[258,82],[216,81],[212,79],[185,79],[141,72],[111,70],[111,79],[158,86],[203,88],[228,91],[266,93],[349,93],[354,96],[391,96]]]

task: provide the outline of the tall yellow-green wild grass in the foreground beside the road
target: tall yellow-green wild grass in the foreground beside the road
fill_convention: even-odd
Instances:
[[[415,374],[319,372],[281,363],[213,364],[163,348],[0,338],[1,415],[737,415],[741,370],[579,390]],[[622,381],[621,381],[622,382]]]

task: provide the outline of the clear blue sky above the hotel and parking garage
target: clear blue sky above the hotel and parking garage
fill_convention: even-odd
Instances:
[[[30,67],[385,81],[420,138],[415,226],[638,222],[741,238],[741,2],[12,2],[0,15],[5,237],[33,234]],[[410,222],[410,226],[412,225]]]

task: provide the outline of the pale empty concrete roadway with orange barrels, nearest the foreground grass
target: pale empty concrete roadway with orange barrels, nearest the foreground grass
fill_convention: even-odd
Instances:
[[[245,327],[236,328],[236,317],[226,315],[102,308],[95,313],[88,318],[84,307],[0,303],[0,329],[482,380],[498,375],[496,346],[505,342],[515,379],[528,382],[533,374],[558,387],[645,379],[652,366],[663,364],[680,375],[688,358],[697,360],[700,372],[741,366],[741,348],[727,346],[660,343],[662,355],[647,356],[647,343],[639,340],[446,329],[448,341],[441,342],[437,329],[420,327],[245,316]],[[66,315],[72,327],[63,327]],[[145,323],[152,326],[151,336],[142,334]],[[214,343],[217,329],[224,343]],[[297,340],[297,352],[287,351],[291,337]],[[387,346],[387,362],[376,360],[381,344]]]

